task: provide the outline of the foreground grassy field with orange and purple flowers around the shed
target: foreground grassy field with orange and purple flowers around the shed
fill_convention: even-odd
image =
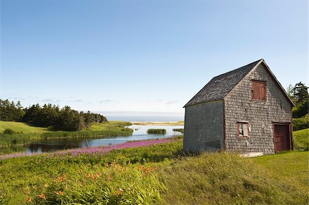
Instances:
[[[184,156],[182,141],[0,160],[0,204],[307,204],[308,152]]]

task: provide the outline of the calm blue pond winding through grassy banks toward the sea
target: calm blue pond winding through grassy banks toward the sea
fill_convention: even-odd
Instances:
[[[180,135],[180,132],[174,132],[173,129],[183,128],[183,125],[130,125],[128,126],[128,128],[133,129],[132,136],[105,136],[102,138],[69,138],[36,141],[36,143],[27,145],[26,152],[54,152],[60,149],[98,147],[102,145],[125,143],[126,141],[139,141],[150,138],[167,138],[174,135]],[[148,129],[165,129],[166,134],[147,134]]]

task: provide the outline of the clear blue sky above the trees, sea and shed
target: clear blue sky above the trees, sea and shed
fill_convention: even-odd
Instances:
[[[212,77],[264,58],[308,85],[307,1],[1,0],[1,99],[184,112]]]

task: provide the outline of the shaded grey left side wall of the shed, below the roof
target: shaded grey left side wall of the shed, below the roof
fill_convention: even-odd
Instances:
[[[222,149],[223,101],[208,101],[185,108],[185,152],[201,152]]]

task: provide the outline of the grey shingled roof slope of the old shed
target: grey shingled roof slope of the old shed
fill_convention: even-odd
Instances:
[[[205,101],[223,99],[261,60],[214,77],[184,107]]]

